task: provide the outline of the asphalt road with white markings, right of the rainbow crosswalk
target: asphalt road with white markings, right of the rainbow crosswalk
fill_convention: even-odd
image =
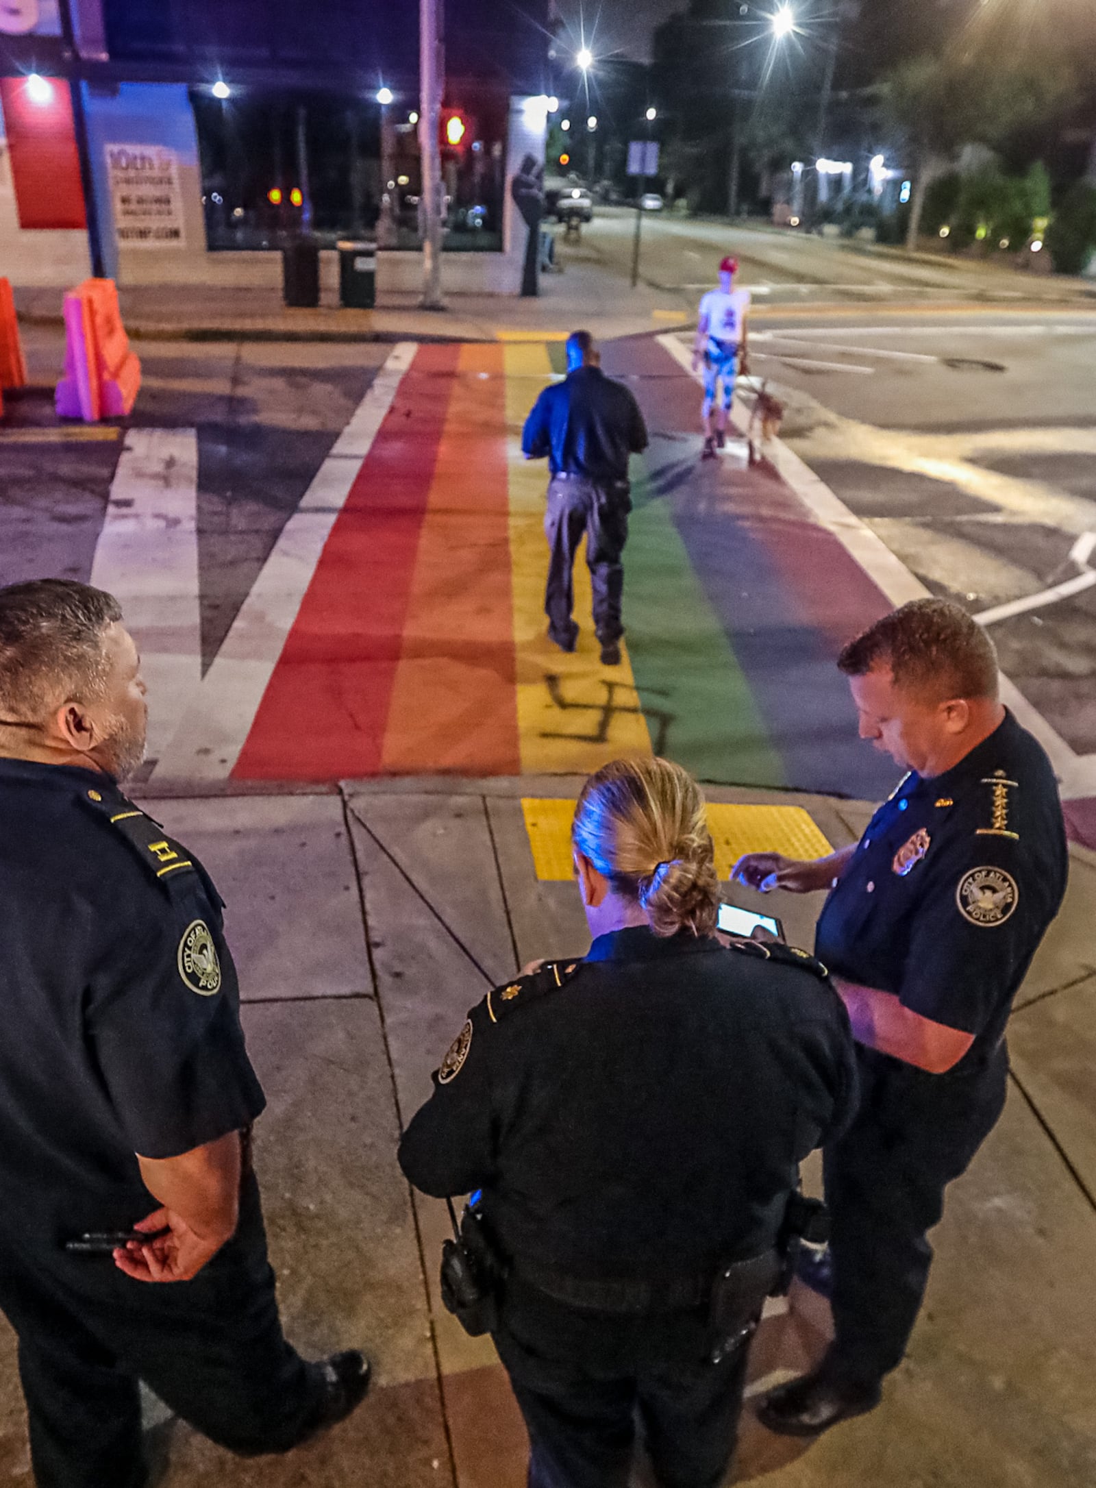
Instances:
[[[626,226],[611,213],[589,235],[622,277]],[[784,437],[929,591],[986,616],[1005,673],[1096,766],[1096,299],[791,234],[644,232],[645,274],[683,296],[717,248],[739,253]]]

